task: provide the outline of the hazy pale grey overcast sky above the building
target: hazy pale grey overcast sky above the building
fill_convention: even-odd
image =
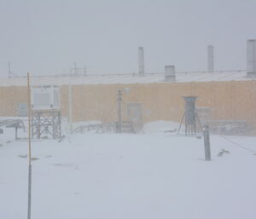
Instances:
[[[254,0],[0,0],[0,76],[246,69],[246,41],[256,38]]]

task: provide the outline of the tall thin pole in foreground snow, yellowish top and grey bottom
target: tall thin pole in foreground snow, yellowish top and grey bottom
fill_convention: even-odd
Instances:
[[[31,219],[31,192],[32,192],[32,164],[31,164],[31,94],[29,72],[27,73],[27,95],[28,95],[28,203],[27,219]]]

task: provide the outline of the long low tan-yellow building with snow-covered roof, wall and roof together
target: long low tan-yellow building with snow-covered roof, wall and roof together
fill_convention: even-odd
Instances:
[[[118,89],[127,103],[141,103],[143,122],[172,120],[183,116],[184,95],[198,96],[196,107],[211,109],[212,120],[242,120],[256,125],[256,82],[246,72],[177,72],[175,82],[165,82],[163,73],[32,77],[32,85],[60,86],[61,115],[68,115],[68,84],[72,90],[73,122],[116,121]],[[0,116],[17,116],[19,103],[27,100],[26,78],[0,80]],[[123,114],[126,115],[125,107]]]

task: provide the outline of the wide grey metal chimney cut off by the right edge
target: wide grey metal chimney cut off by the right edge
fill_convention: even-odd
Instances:
[[[247,40],[247,77],[256,78],[256,39]]]

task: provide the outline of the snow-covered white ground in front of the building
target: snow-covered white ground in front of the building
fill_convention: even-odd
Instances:
[[[256,218],[255,137],[203,139],[165,132],[32,141],[32,218]],[[151,127],[151,128],[150,128]],[[26,218],[27,141],[0,135],[0,218]],[[6,137],[8,136],[8,137]],[[229,151],[218,156],[222,149]]]

